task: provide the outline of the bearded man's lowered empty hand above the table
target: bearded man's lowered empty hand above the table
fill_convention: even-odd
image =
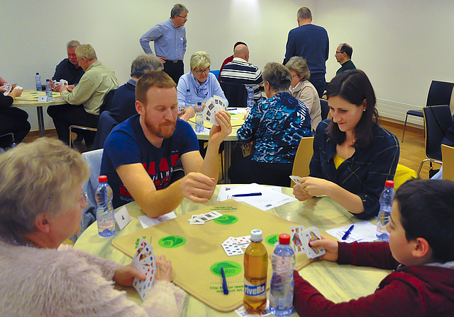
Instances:
[[[184,197],[192,202],[204,203],[213,196],[216,180],[202,173],[189,173],[180,184]]]

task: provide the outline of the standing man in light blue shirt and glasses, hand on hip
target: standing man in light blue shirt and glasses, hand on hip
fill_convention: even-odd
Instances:
[[[150,41],[155,42],[156,57],[164,64],[164,71],[178,83],[184,74],[183,58],[186,52],[186,29],[188,9],[182,4],[175,4],[170,11],[170,18],[157,23],[140,38],[140,46],[146,54],[153,54]]]

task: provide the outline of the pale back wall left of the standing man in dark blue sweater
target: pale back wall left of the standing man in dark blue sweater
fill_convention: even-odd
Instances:
[[[143,51],[139,38],[170,16],[176,3],[164,0],[0,0],[0,75],[26,89],[34,87],[35,72],[44,81],[66,57],[65,44],[79,40],[93,45],[99,60],[116,71],[118,83],[129,79],[131,62]],[[250,62],[262,68],[282,62],[287,33],[297,26],[300,1],[292,0],[185,0],[189,9],[185,69],[197,50],[211,56],[211,69],[219,69],[233,44],[250,47]],[[311,6],[314,1],[305,5]],[[8,8],[8,9],[6,9]],[[154,50],[154,49],[153,49]],[[26,108],[32,129],[38,129],[35,110]],[[45,114],[46,128],[53,127]]]

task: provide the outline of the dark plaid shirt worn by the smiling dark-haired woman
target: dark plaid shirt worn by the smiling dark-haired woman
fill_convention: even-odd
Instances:
[[[399,162],[399,140],[380,125],[375,126],[374,137],[364,149],[356,149],[336,169],[333,156],[336,143],[327,128],[329,120],[320,122],[314,138],[314,156],[309,164],[310,175],[338,184],[345,190],[358,195],[364,212],[355,214],[360,219],[377,216],[380,209],[380,194],[386,180],[393,180]]]

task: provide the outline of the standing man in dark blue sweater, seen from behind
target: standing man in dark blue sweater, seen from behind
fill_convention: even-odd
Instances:
[[[323,96],[326,80],[326,61],[329,53],[328,33],[319,25],[312,24],[312,13],[305,6],[297,13],[298,28],[289,32],[284,64],[294,56],[306,59],[311,71],[309,81],[315,86],[319,97]]]

